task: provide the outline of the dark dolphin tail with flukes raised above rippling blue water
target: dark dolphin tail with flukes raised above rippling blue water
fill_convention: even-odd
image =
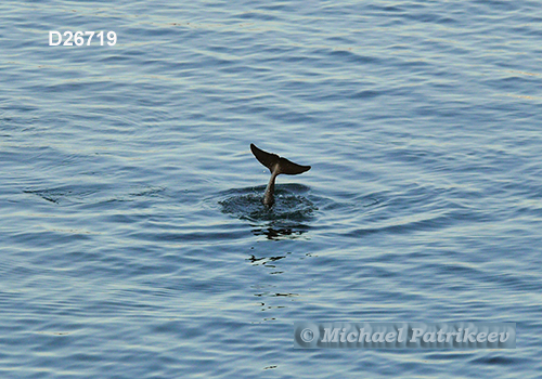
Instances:
[[[266,195],[263,195],[263,205],[267,208],[271,208],[274,204],[274,180],[279,174],[297,175],[310,170],[310,166],[297,165],[276,154],[263,152],[261,148],[256,147],[254,143],[250,144],[250,151],[253,151],[256,159],[271,171]]]

